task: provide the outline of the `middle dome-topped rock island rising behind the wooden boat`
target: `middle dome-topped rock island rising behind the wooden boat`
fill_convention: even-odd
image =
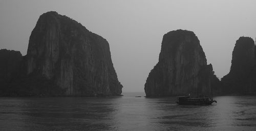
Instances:
[[[197,36],[186,30],[170,31],[163,36],[159,62],[144,90],[146,96],[209,95],[212,79],[216,76]]]

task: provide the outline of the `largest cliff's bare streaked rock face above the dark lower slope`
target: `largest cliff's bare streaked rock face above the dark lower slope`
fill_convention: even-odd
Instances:
[[[26,67],[27,75],[53,80],[65,94],[122,92],[108,41],[57,12],[39,17],[30,36]]]

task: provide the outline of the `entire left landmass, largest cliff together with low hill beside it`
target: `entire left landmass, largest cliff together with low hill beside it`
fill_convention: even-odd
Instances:
[[[7,50],[0,56],[1,78],[7,78],[2,96],[122,93],[108,41],[57,12],[39,17],[26,56]]]

